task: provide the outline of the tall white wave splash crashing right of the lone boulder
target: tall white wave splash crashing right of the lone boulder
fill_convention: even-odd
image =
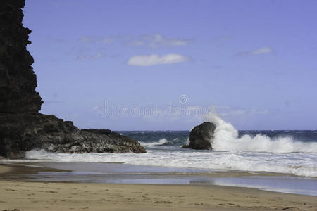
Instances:
[[[209,115],[206,121],[216,124],[214,139],[211,140],[216,151],[254,151],[271,153],[306,152],[317,153],[316,142],[302,142],[293,140],[291,136],[270,137],[257,134],[254,137],[244,135],[238,138],[238,132],[229,122],[225,122],[216,115]]]

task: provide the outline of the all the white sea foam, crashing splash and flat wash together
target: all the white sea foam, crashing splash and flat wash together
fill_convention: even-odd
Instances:
[[[141,143],[142,146],[149,147],[148,153],[143,154],[29,151],[26,158],[31,161],[37,159],[57,162],[124,162],[130,165],[190,167],[211,171],[275,172],[317,177],[317,143],[300,142],[290,136],[270,139],[262,134],[254,137],[244,135],[239,138],[232,124],[217,116],[209,117],[208,120],[217,126],[213,139],[215,151],[192,151],[181,148],[170,151],[151,148],[167,142],[166,139],[160,139],[156,142]]]

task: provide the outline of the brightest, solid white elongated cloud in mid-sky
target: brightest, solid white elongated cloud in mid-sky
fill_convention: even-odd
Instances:
[[[165,56],[158,56],[157,54],[132,56],[128,60],[128,65],[134,66],[151,66],[151,65],[163,65],[171,63],[182,63],[189,60],[186,56],[179,54],[166,54]]]

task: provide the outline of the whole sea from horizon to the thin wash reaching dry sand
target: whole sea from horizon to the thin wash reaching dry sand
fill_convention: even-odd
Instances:
[[[216,184],[317,196],[317,131],[238,131],[213,117],[213,150],[182,148],[189,131],[118,131],[147,153],[28,151],[24,162],[70,172],[40,172],[27,181],[112,184]],[[13,176],[15,177],[15,176]]]

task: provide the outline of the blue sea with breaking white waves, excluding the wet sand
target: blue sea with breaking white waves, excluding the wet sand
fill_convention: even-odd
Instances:
[[[48,153],[29,151],[32,160],[108,162],[154,167],[190,168],[197,172],[272,172],[317,177],[317,131],[237,131],[217,117],[213,151],[182,146],[189,131],[120,131],[136,139],[147,153]]]

